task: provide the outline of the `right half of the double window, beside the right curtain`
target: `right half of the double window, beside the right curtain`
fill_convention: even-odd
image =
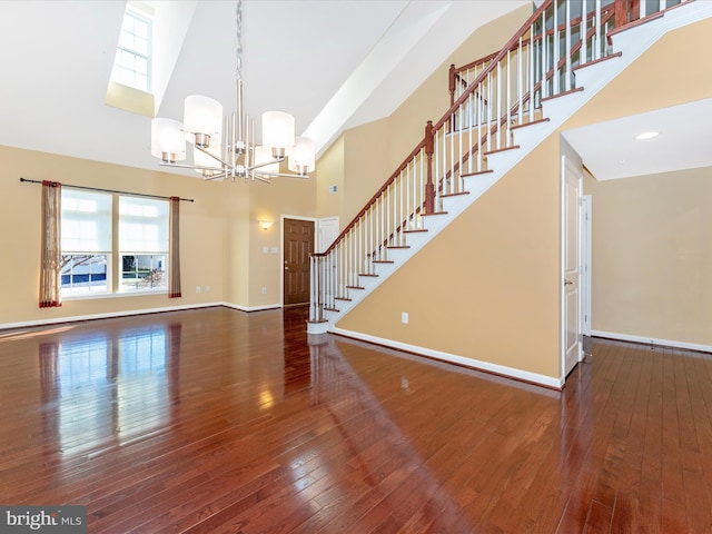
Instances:
[[[166,289],[168,202],[119,197],[120,291]]]

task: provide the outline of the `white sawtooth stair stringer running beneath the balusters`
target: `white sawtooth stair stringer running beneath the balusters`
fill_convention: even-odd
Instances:
[[[477,174],[465,178],[468,195],[444,197],[442,199],[443,214],[428,215],[422,218],[423,228],[427,231],[406,234],[408,248],[390,249],[388,256],[393,263],[375,264],[375,274],[377,276],[359,277],[359,286],[363,289],[349,289],[350,299],[338,300],[336,304],[338,312],[324,310],[326,320],[308,323],[307,332],[309,334],[333,332],[335,324],[342,317],[358,306],[367,295],[422,250],[443,228],[469,208],[490,187],[518,165],[544,139],[555,132],[584,103],[623,72],[661,37],[669,31],[708,18],[712,18],[712,1],[696,0],[666,11],[662,17],[615,33],[611,39],[612,48],[614,52],[621,52],[621,56],[577,69],[575,71],[576,88],[583,88],[583,90],[544,100],[542,116],[547,118],[547,121],[535,122],[513,130],[514,144],[518,145],[520,148],[488,155],[487,168],[492,172]],[[354,334],[349,332],[349,335]]]

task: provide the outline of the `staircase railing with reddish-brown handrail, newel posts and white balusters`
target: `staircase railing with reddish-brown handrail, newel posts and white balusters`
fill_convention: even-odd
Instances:
[[[465,181],[490,172],[487,156],[518,148],[513,129],[546,120],[543,100],[575,90],[574,69],[609,55],[613,28],[650,19],[685,0],[545,0],[494,56],[451,69],[452,106],[324,253],[312,255],[309,322],[326,322],[377,276],[389,251],[426,231],[443,199],[466,195]],[[688,0],[692,1],[692,0]]]

